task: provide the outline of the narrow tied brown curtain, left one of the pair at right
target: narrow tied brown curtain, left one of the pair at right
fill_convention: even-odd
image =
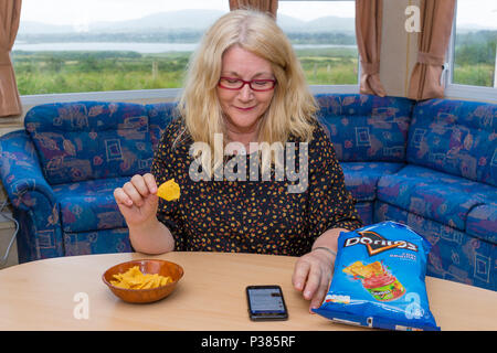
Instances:
[[[361,63],[360,93],[384,97],[380,82],[383,0],[356,0],[356,39]]]

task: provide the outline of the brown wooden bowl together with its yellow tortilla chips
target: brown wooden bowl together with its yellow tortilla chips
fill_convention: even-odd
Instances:
[[[169,296],[183,277],[178,264],[161,259],[137,259],[118,264],[102,275],[110,291],[127,302],[154,302]]]

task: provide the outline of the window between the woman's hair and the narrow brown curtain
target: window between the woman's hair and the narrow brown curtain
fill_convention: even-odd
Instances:
[[[279,1],[278,24],[310,85],[357,85],[355,1]]]

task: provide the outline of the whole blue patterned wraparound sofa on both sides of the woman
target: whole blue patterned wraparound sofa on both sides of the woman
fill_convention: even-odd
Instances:
[[[403,222],[434,245],[429,275],[497,290],[497,105],[317,99],[364,224]],[[113,191],[149,170],[173,107],[41,105],[0,138],[21,263],[131,252]]]

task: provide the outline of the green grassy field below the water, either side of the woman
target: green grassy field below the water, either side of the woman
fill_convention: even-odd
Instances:
[[[191,53],[13,52],[21,95],[176,88]],[[357,50],[297,51],[311,85],[357,84]]]

